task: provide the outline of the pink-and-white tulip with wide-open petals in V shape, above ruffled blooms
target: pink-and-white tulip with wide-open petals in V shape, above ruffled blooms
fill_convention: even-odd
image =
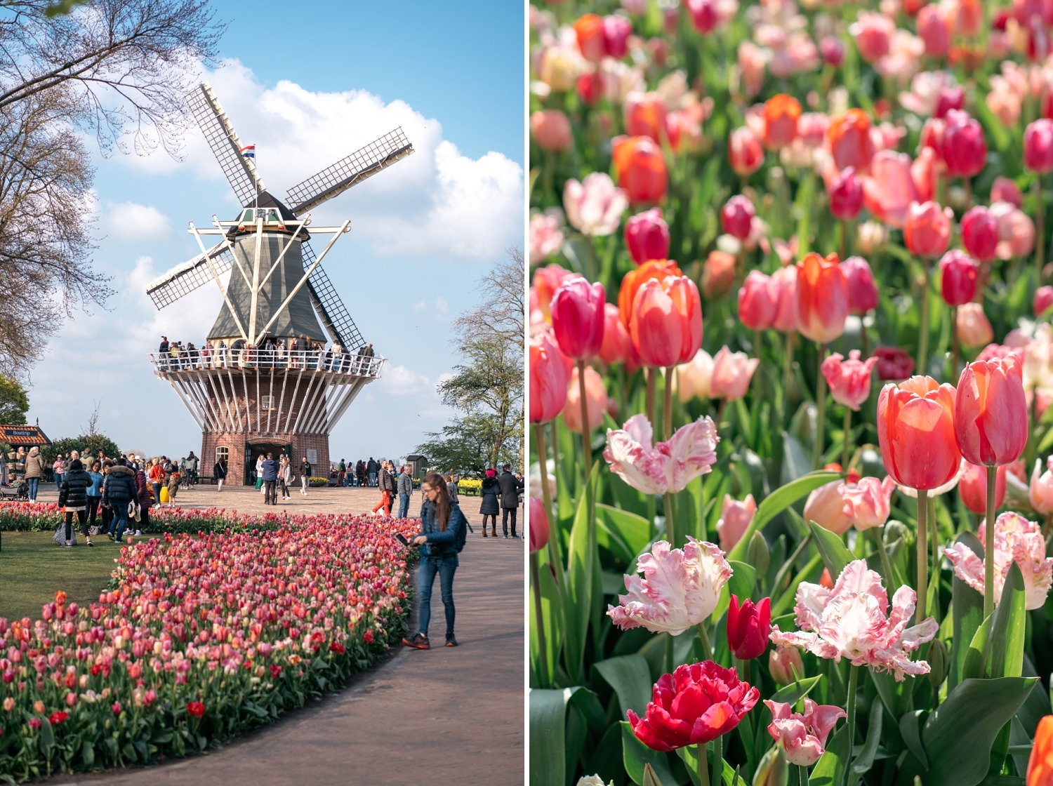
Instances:
[[[603,458],[611,471],[643,493],[675,493],[706,475],[717,461],[720,438],[711,418],[699,418],[652,445],[653,431],[644,415],[634,415],[623,428],[607,430]]]

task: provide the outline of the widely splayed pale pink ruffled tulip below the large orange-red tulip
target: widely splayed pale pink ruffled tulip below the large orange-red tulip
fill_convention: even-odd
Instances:
[[[916,599],[911,587],[901,586],[892,598],[890,613],[881,577],[867,568],[866,560],[855,560],[845,566],[833,589],[801,582],[794,608],[800,630],[783,632],[774,625],[771,640],[834,662],[847,658],[853,666],[887,671],[902,682],[907,674],[929,673],[929,664],[912,661],[909,653],[932,641],[939,628],[931,617],[907,627]]]

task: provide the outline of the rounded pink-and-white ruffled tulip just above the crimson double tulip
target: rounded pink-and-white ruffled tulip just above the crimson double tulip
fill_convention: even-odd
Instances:
[[[639,416],[637,416],[639,417]],[[723,551],[688,536],[682,548],[658,541],[636,560],[643,577],[625,575],[627,594],[607,614],[622,630],[643,627],[652,633],[682,633],[707,620],[731,578]]]

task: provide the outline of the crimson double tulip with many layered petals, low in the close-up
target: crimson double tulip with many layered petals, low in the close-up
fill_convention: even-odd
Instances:
[[[733,668],[713,661],[684,664],[658,678],[643,718],[633,710],[628,718],[640,742],[664,752],[727,734],[759,698]]]

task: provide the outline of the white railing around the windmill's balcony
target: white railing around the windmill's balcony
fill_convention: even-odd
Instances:
[[[150,362],[157,374],[198,371],[213,368],[303,368],[311,371],[330,371],[356,377],[378,377],[385,358],[366,357],[351,352],[333,355],[332,351],[296,351],[274,348],[232,349],[204,347],[182,350],[178,354],[151,352]]]

